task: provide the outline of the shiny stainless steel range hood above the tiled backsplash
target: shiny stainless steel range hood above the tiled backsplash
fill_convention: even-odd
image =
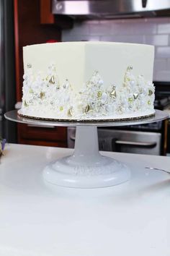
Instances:
[[[170,10],[169,0],[53,0],[53,14],[116,18],[125,15],[156,16],[156,12]],[[165,15],[165,13],[164,13]],[[168,13],[167,13],[168,15]]]

